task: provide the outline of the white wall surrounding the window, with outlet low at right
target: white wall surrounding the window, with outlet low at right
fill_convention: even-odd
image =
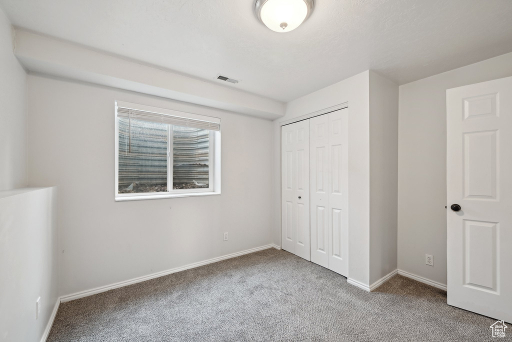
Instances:
[[[220,117],[222,195],[115,202],[115,100]],[[58,185],[61,295],[271,243],[271,121],[36,75],[29,113],[29,183]]]

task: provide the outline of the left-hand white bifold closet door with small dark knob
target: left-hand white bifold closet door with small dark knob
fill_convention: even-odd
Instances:
[[[281,247],[309,260],[309,120],[281,127]]]

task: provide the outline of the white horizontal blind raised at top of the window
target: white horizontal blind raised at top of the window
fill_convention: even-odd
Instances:
[[[198,120],[175,115],[146,112],[124,107],[117,108],[117,117],[158,123],[167,123],[176,126],[191,127],[201,130],[210,130],[217,132],[220,131],[221,129],[221,124],[215,121]]]

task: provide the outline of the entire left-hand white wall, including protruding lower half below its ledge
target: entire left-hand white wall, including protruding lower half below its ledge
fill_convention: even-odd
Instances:
[[[27,73],[13,54],[13,35],[0,9],[0,340],[36,341],[58,297],[57,190],[22,188],[28,184]]]

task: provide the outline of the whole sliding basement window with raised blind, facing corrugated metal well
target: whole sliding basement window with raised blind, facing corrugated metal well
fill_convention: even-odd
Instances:
[[[116,103],[116,201],[220,193],[220,119]]]

